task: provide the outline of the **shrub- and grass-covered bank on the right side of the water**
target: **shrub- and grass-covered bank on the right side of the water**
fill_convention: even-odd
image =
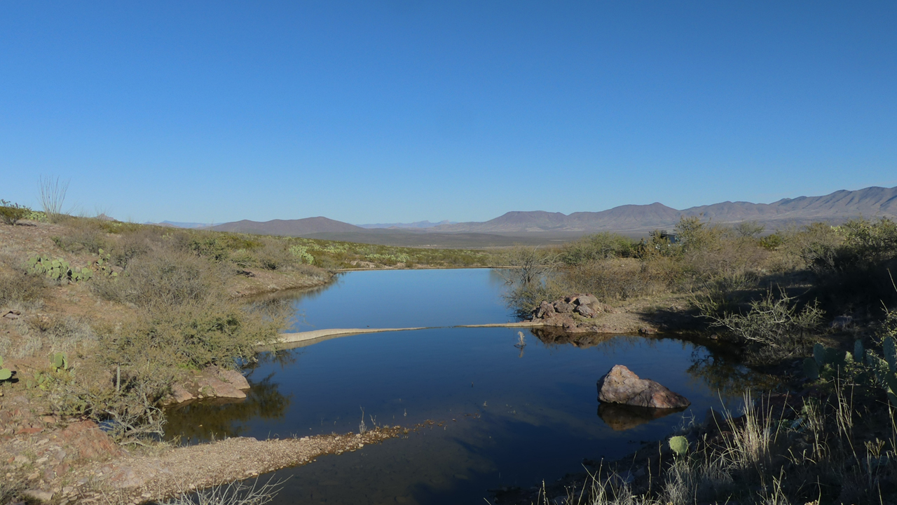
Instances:
[[[897,224],[857,219],[762,236],[691,218],[675,232],[675,241],[601,234],[543,251],[535,262],[546,272],[519,282],[511,301],[527,312],[575,292],[617,306],[679,297],[699,333],[778,374],[791,400],[747,400],[744,415],[684,430],[687,454],[655,445],[521,502],[897,502]],[[833,347],[814,348],[819,341]],[[876,358],[883,352],[887,366]]]

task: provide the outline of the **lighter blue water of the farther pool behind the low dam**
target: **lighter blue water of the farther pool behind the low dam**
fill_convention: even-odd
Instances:
[[[324,288],[289,295],[292,331],[406,328],[515,321],[501,270],[371,270],[339,274]]]

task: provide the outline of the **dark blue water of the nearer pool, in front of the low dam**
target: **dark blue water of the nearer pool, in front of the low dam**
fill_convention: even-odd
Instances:
[[[701,421],[710,406],[719,406],[707,381],[688,372],[695,358],[709,355],[690,342],[620,336],[578,349],[526,334],[522,358],[514,347],[517,330],[507,328],[356,335],[291,350],[292,363],[265,363],[249,377],[266,382],[248,402],[280,411],[263,408],[247,417],[235,405],[231,430],[259,439],[357,432],[360,407],[369,427],[371,416],[390,425],[448,421],[445,430],[283,470],[278,474],[292,478],[279,502],[394,503],[402,496],[406,503],[459,503],[482,500],[502,485],[529,486],[580,471],[584,457],[624,456],[640,441],[661,439],[684,419]],[[596,381],[617,363],[684,394],[692,406],[653,420],[633,422],[623,412],[616,423],[603,421]],[[272,393],[275,398],[255,399]],[[220,430],[227,412],[209,409]],[[621,425],[631,428],[614,430]]]

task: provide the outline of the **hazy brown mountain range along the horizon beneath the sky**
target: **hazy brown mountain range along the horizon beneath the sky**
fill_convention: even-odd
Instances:
[[[814,221],[842,222],[853,217],[897,218],[897,187],[840,190],[821,197],[780,199],[768,204],[725,201],[684,210],[652,203],[623,205],[600,212],[574,212],[570,215],[541,210],[512,211],[482,223],[443,221],[432,224],[429,221],[421,221],[410,224],[354,226],[327,217],[307,217],[265,222],[243,220],[212,226],[211,229],[262,235],[317,235],[338,240],[350,240],[348,237],[356,237],[359,242],[365,241],[356,234],[374,234],[379,235],[378,243],[385,243],[388,240],[383,237],[389,234],[431,234],[443,238],[451,234],[570,236],[599,231],[639,234],[653,229],[672,228],[681,217],[689,216],[701,216],[714,223],[725,225],[756,221],[768,228],[803,225]]]

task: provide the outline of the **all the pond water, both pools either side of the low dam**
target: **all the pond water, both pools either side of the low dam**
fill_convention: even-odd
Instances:
[[[493,270],[348,272],[293,293],[294,328],[449,326],[512,320]],[[365,423],[446,421],[276,474],[276,503],[483,503],[487,490],[531,486],[582,470],[583,458],[625,456],[708,408],[736,403],[748,370],[701,345],[594,335],[577,345],[539,330],[440,327],[370,333],[263,354],[241,403],[170,412],[169,434],[193,441],[358,431]],[[615,364],[684,394],[692,406],[653,419],[597,402]]]

